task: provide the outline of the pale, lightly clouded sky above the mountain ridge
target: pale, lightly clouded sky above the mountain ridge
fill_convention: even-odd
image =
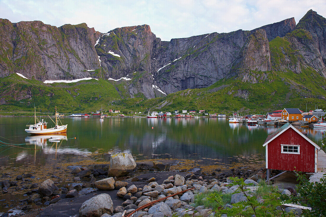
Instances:
[[[252,30],[291,17],[298,23],[310,9],[326,17],[325,0],[0,0],[0,18],[11,22],[85,22],[101,33],[147,24],[162,41]]]

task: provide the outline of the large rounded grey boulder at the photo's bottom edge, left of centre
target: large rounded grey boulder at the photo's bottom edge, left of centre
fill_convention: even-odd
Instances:
[[[81,217],[100,217],[104,213],[112,214],[113,202],[110,195],[100,194],[83,202],[79,209]]]

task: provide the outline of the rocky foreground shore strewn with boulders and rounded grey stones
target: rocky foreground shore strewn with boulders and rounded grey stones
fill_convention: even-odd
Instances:
[[[196,195],[210,191],[233,193],[238,186],[229,185],[230,177],[243,178],[245,183],[254,185],[265,177],[264,168],[217,169],[212,173],[201,172],[200,169],[171,171],[168,162],[136,163],[126,153],[111,155],[110,164],[69,166],[67,170],[73,177],[71,183],[54,182],[55,175],[40,184],[30,183],[29,191],[24,195],[26,198],[20,200],[22,212],[17,215],[121,217],[123,213],[126,216],[154,200],[188,190],[138,210],[133,216],[208,216],[212,214],[212,209],[196,206]],[[30,181],[33,178],[30,175],[18,175],[15,181],[2,181],[2,193],[15,188],[19,182]],[[288,190],[283,193],[290,194]],[[233,194],[230,206],[243,199],[243,195]],[[294,211],[300,214],[301,210]],[[8,215],[5,212],[1,216]]]

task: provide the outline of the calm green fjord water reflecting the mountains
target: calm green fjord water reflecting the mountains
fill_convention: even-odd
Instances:
[[[51,120],[47,118],[47,121]],[[0,164],[55,165],[61,161],[80,161],[98,150],[104,153],[105,160],[118,151],[131,153],[136,159],[219,159],[232,163],[235,157],[255,156],[253,160],[264,160],[262,144],[277,129],[230,124],[228,118],[108,117],[104,121],[99,118],[62,118],[61,121],[68,124],[67,135],[31,136],[24,129],[34,118],[1,117],[0,140],[17,145],[1,143]],[[308,137],[317,144],[324,131],[299,130],[307,131]],[[50,137],[60,137],[61,141],[49,142]]]

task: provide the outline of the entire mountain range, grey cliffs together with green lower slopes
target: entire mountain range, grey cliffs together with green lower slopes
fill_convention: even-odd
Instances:
[[[126,108],[128,103],[124,99],[145,100],[143,103],[148,108],[187,107],[186,102],[174,105],[172,99],[168,100],[171,96],[181,99],[184,95],[192,100],[190,104],[195,108],[200,99],[189,98],[192,92],[206,97],[213,93],[227,94],[231,98],[226,98],[238,101],[239,106],[242,103],[256,108],[257,104],[247,101],[260,95],[259,90],[264,92],[261,91],[264,88],[265,96],[277,97],[268,101],[269,107],[289,104],[291,99],[299,102],[300,98],[319,102],[326,96],[325,24],[325,18],[309,10],[297,25],[294,18],[289,18],[251,31],[210,33],[167,42],[157,38],[148,25],[99,33],[85,23],[55,27],[41,21],[11,23],[0,19],[0,83],[5,91],[0,95],[0,102],[16,105],[25,100],[24,103],[30,104],[35,100],[32,92],[36,87],[38,91],[34,94],[41,99],[49,97],[43,95],[45,89],[51,89],[56,96],[59,94],[56,87],[72,86],[42,83],[45,80],[86,77],[101,80],[97,89],[102,94],[97,91],[99,96],[93,100],[103,100],[103,95],[108,95],[106,103],[119,101]],[[13,77],[15,73],[29,80]],[[93,79],[82,83],[91,86],[94,82]],[[74,86],[78,87],[79,83]],[[287,90],[283,91],[283,87]],[[81,94],[81,89],[84,92],[92,89],[84,88],[74,91]],[[17,96],[10,97],[14,91]],[[165,97],[166,94],[171,96]],[[225,103],[226,98],[217,98],[217,102]],[[264,104],[265,100],[259,102]],[[77,104],[80,103],[82,99]],[[209,106],[216,109],[219,104]]]

